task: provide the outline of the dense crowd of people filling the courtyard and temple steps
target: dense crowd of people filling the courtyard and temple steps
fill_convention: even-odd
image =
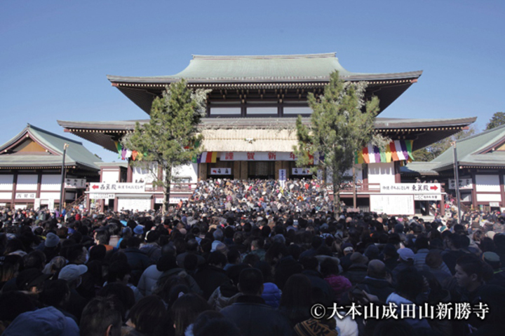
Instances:
[[[317,181],[217,179],[198,183],[165,215],[1,209],[0,221],[3,335],[505,330],[505,218],[497,211],[465,214],[462,223],[335,214]],[[380,314],[349,314],[369,304]],[[385,316],[391,304],[398,316],[400,304],[413,304],[417,315]],[[436,316],[419,316],[425,304],[439,307]],[[437,316],[440,307],[452,315]]]

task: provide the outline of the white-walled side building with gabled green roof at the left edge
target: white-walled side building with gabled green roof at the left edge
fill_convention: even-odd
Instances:
[[[11,209],[58,208],[63,150],[66,205],[83,200],[86,183],[99,181],[101,162],[83,144],[34,125],[0,146],[0,206]]]

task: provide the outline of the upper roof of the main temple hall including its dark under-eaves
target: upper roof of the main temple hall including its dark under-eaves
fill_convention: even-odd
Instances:
[[[193,56],[186,69],[171,76],[107,76],[143,111],[150,113],[154,97],[166,85],[184,78],[190,87],[213,90],[320,90],[339,71],[344,80],[368,81],[368,95],[379,97],[383,111],[417,81],[422,71],[358,73],[340,65],[335,52],[309,55]],[[287,92],[287,91],[285,91]]]

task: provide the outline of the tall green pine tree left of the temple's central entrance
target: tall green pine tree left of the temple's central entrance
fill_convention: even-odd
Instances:
[[[153,185],[163,187],[163,213],[168,210],[172,169],[189,164],[199,153],[195,144],[202,140],[198,125],[206,111],[207,92],[189,89],[185,80],[170,84],[154,99],[149,123],[137,122],[135,132],[123,137],[123,147],[142,156],[131,163],[149,169]]]

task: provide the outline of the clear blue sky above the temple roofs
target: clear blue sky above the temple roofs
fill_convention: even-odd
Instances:
[[[1,1],[0,143],[26,123],[146,118],[107,74],[177,73],[191,55],[337,52],[355,72],[424,70],[381,116],[505,111],[505,1]]]

